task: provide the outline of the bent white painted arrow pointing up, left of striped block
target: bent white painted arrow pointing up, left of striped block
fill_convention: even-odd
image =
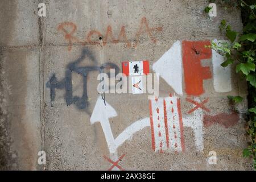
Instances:
[[[142,130],[146,126],[150,126],[150,119],[144,118],[138,120],[127,127],[118,137],[115,139],[112,133],[112,129],[109,123],[109,118],[117,116],[117,112],[112,106],[102,100],[101,96],[98,97],[96,105],[94,106],[92,116],[90,117],[90,123],[100,122],[102,130],[104,132],[106,142],[109,146],[110,154],[114,154],[117,148],[121,146],[123,142],[133,137],[133,134],[139,130]]]

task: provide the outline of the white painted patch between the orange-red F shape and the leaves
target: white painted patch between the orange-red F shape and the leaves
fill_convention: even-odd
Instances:
[[[216,44],[226,42],[225,40],[213,40]],[[213,64],[213,86],[216,92],[230,92],[232,91],[232,76],[231,67],[222,67],[224,56],[212,50],[212,64]]]

